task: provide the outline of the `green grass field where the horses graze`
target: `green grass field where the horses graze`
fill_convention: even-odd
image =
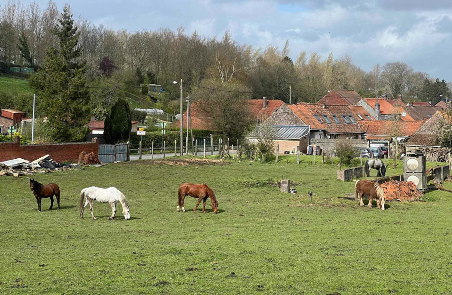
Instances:
[[[452,293],[452,194],[387,202],[385,211],[359,207],[338,198],[354,182],[337,181],[337,166],[302,160],[135,161],[37,175],[59,184],[60,211],[48,211],[43,199],[37,212],[27,178],[0,177],[0,293]],[[283,174],[298,194],[253,185]],[[206,214],[191,213],[190,197],[187,212],[176,212],[182,182],[211,186],[219,213],[210,202]],[[131,220],[118,205],[117,220],[108,221],[111,209],[99,203],[97,220],[89,210],[80,219],[80,190],[92,185],[121,190]],[[312,205],[309,191],[316,194]]]

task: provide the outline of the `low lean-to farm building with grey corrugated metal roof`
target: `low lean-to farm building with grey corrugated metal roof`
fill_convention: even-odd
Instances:
[[[258,138],[266,136],[274,141],[275,148],[279,144],[279,154],[287,154],[295,149],[304,152],[309,142],[309,126],[259,126],[247,136],[247,140],[255,143]]]

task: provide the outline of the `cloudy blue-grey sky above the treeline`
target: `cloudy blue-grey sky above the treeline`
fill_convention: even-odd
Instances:
[[[238,42],[262,48],[282,48],[289,39],[294,60],[301,51],[325,57],[333,52],[335,58],[351,56],[366,71],[376,63],[403,61],[431,77],[452,80],[451,0],[54,1],[60,10],[68,2],[74,17],[113,29],[183,26],[210,37],[229,30]]]

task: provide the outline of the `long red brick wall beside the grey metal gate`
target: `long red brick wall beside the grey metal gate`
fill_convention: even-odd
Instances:
[[[16,158],[33,161],[49,154],[53,160],[59,162],[76,162],[81,151],[93,152],[98,157],[99,142],[93,139],[92,142],[20,145],[16,137],[12,143],[0,143],[0,161]]]

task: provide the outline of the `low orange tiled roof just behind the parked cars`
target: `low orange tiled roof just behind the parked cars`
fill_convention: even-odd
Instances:
[[[411,136],[425,123],[425,121],[398,121],[397,136]],[[394,121],[360,122],[362,130],[366,131],[366,139],[389,139],[394,133]]]

